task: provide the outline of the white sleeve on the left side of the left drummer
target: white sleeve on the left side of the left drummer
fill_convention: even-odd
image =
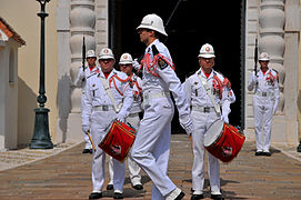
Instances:
[[[92,93],[88,86],[84,88],[84,93],[82,97],[82,108],[81,108],[81,124],[83,132],[87,132],[90,129],[90,118],[92,112]]]

